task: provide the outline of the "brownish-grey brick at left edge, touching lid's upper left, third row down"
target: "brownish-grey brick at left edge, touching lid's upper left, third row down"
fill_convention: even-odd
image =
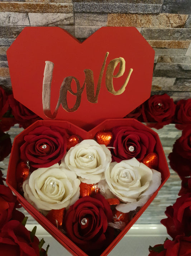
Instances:
[[[0,37],[16,38],[23,28],[22,26],[0,26]]]

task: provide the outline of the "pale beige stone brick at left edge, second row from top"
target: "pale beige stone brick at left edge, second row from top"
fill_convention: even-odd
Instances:
[[[30,26],[28,13],[0,12],[0,26]]]

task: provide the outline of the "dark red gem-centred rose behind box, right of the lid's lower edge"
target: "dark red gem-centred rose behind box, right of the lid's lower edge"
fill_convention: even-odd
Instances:
[[[153,95],[143,104],[143,121],[157,122],[152,127],[162,128],[172,122],[176,105],[167,94]],[[151,126],[151,125],[149,125]]]

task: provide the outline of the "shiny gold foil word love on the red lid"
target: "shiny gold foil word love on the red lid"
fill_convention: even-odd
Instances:
[[[105,69],[105,64],[106,64],[106,59],[108,58],[109,52],[106,53],[104,62],[101,67],[100,75],[99,75],[99,80],[97,82],[97,88],[96,88],[96,93],[94,93],[95,85],[94,85],[94,73],[91,69],[84,69],[85,73],[85,81],[83,83],[83,86],[80,87],[80,82],[78,79],[74,76],[67,76],[64,78],[61,88],[60,88],[60,93],[59,93],[59,99],[58,103],[56,106],[56,109],[54,113],[51,113],[51,84],[52,84],[52,74],[53,74],[53,68],[54,68],[54,63],[50,61],[46,61],[46,65],[44,68],[44,78],[43,78],[43,91],[42,91],[42,101],[43,101],[43,111],[44,114],[49,117],[49,118],[56,118],[58,108],[60,104],[62,104],[62,107],[67,111],[67,112],[74,112],[78,109],[81,103],[81,95],[84,90],[84,87],[86,85],[86,94],[87,94],[87,100],[91,103],[97,103],[100,88],[101,88],[101,81]],[[114,75],[114,70],[119,64],[119,71],[116,75]],[[125,60],[124,58],[116,58],[113,59],[109,62],[107,70],[106,70],[106,75],[105,75],[105,85],[108,91],[114,95],[120,95],[125,91],[125,87],[129,82],[129,78],[133,72],[133,69],[129,69],[128,76],[126,77],[126,80],[124,84],[121,86],[121,88],[118,91],[114,90],[114,85],[113,85],[113,77],[121,77],[123,76],[125,72]],[[71,88],[71,83],[72,80],[75,81],[77,91],[73,92]],[[76,102],[73,105],[72,108],[68,107],[67,103],[67,92],[70,92],[72,95],[76,96]]]

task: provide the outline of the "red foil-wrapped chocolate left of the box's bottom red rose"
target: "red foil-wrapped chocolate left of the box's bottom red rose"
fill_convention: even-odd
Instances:
[[[62,227],[63,218],[66,215],[66,208],[59,210],[51,210],[46,215],[46,218],[57,228]]]

